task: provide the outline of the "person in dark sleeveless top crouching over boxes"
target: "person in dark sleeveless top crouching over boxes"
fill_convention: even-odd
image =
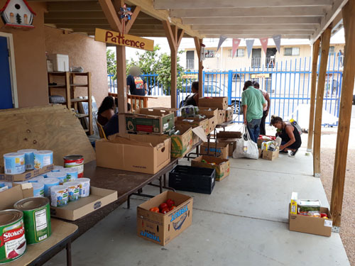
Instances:
[[[301,147],[302,140],[300,132],[293,124],[284,122],[279,116],[271,116],[271,125],[278,128],[277,135],[281,138],[280,153],[288,153],[290,157],[294,157]]]

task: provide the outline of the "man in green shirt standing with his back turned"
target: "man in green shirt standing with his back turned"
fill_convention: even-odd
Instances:
[[[266,101],[261,91],[255,89],[253,82],[250,80],[244,83],[243,93],[241,94],[241,105],[243,106],[244,124],[248,128],[251,139],[257,143]]]

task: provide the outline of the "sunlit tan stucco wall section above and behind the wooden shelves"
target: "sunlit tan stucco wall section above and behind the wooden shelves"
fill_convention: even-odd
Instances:
[[[44,28],[45,49],[48,54],[69,55],[69,67],[83,67],[84,72],[92,72],[92,95],[97,104],[107,96],[106,45],[79,33],[64,34],[57,28]],[[75,82],[75,83],[82,83]],[[60,91],[55,91],[60,94]],[[75,96],[86,96],[86,89],[77,89]]]

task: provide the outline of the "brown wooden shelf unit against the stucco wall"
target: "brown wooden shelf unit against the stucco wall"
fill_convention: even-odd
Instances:
[[[51,89],[65,89],[65,105],[67,109],[75,109],[77,113],[77,118],[80,120],[88,118],[88,129],[84,129],[85,132],[92,135],[92,84],[91,84],[91,72],[48,72],[48,84],[53,82],[53,77],[62,77],[63,80],[57,85],[48,85],[48,95],[51,95]],[[75,77],[87,77],[87,83],[76,82]],[[57,78],[58,79],[58,78]],[[56,79],[56,82],[57,82]],[[84,99],[75,98],[76,88],[87,88],[87,98]],[[80,113],[78,109],[78,103],[87,102],[89,114]],[[86,124],[86,123],[84,123]]]

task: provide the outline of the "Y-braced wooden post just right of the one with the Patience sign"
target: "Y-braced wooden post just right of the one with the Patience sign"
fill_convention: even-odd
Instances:
[[[176,108],[176,92],[177,92],[177,62],[178,62],[178,48],[184,35],[184,30],[178,29],[177,26],[170,26],[168,21],[162,21],[165,30],[166,38],[171,52],[171,84],[170,84],[170,96],[171,96],[171,108]]]

